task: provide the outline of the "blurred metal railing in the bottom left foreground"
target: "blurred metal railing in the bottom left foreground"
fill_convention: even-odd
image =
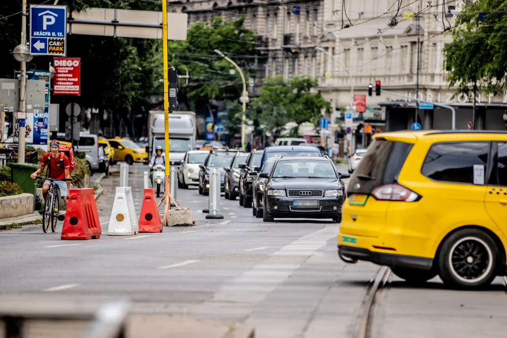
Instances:
[[[8,303],[8,304],[7,304]],[[96,310],[69,303],[0,304],[0,336],[5,338],[125,338],[130,303],[103,304]],[[63,324],[65,323],[65,324]],[[2,332],[4,331],[4,332]],[[34,332],[37,332],[34,335]]]

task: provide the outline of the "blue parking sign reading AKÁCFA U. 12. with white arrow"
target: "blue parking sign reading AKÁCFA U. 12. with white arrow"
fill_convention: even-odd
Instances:
[[[67,6],[30,5],[30,53],[67,53]]]

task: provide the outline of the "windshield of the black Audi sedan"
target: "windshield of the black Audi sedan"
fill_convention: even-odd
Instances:
[[[278,161],[273,178],[337,178],[330,161]]]

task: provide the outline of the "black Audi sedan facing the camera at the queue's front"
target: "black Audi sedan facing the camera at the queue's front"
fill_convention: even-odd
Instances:
[[[279,158],[269,173],[264,187],[263,220],[274,218],[332,218],[342,220],[346,199],[342,178],[328,157]]]

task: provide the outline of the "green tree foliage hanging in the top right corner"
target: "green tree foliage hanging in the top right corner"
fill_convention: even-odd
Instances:
[[[474,87],[499,94],[507,89],[505,69],[505,25],[503,0],[477,0],[463,7],[452,28],[452,43],[444,47],[449,87],[458,93],[470,93]],[[493,12],[490,12],[493,11]],[[486,20],[478,13],[486,12]]]

